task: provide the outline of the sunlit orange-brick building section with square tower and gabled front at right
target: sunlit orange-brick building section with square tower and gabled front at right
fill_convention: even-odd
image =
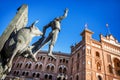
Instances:
[[[92,38],[93,32],[85,28],[82,40],[71,46],[70,80],[120,80],[120,43],[109,34]]]

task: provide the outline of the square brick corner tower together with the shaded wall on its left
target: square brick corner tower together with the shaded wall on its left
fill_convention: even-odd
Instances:
[[[90,65],[87,64],[88,56],[91,54],[91,39],[93,32],[85,28],[81,33],[82,41],[71,47],[71,80],[88,80]],[[89,64],[91,58],[89,58]]]

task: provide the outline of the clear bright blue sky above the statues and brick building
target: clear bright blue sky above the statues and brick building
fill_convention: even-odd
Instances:
[[[70,53],[70,46],[81,41],[80,33],[86,23],[94,32],[94,39],[99,40],[99,34],[108,33],[105,26],[108,23],[111,34],[120,41],[120,0],[0,0],[0,35],[22,4],[29,7],[28,26],[39,19],[37,26],[40,30],[55,17],[62,15],[65,8],[69,9],[67,18],[61,23],[54,51]],[[34,38],[32,43],[38,38]],[[47,49],[48,46],[42,48]]]

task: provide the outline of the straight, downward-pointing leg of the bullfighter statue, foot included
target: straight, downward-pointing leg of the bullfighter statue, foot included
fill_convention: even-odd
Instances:
[[[59,33],[59,30],[54,31],[51,42],[50,42],[50,45],[49,45],[49,50],[48,50],[48,52],[49,52],[48,55],[53,57],[54,59],[56,59],[56,57],[52,54],[52,51],[53,51],[54,44],[57,40],[58,33]]]

